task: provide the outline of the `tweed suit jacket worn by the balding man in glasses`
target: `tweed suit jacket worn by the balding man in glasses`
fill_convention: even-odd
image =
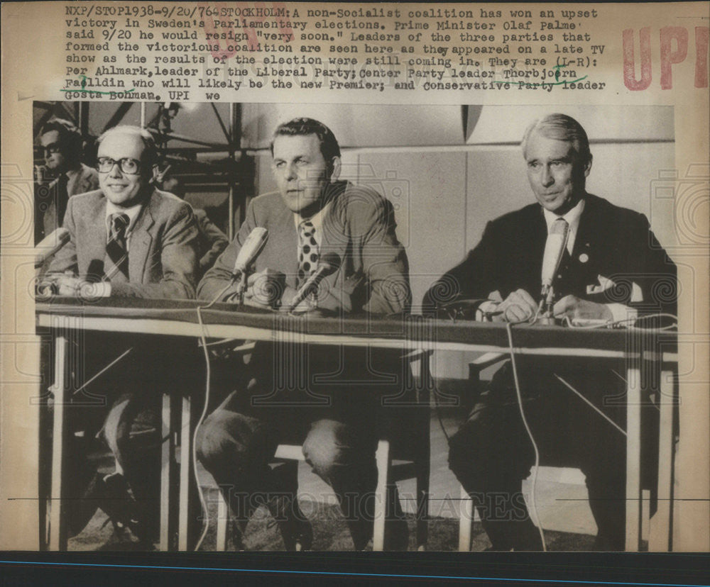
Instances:
[[[50,272],[103,274],[106,255],[106,197],[97,189],[73,196],[64,226],[70,242],[55,256]],[[190,204],[153,190],[129,237],[129,281],[111,284],[111,295],[194,298],[199,251],[197,221]]]

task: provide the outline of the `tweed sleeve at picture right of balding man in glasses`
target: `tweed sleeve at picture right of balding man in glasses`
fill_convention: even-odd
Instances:
[[[163,278],[153,284],[139,284],[135,281],[111,284],[111,295],[137,298],[195,298],[199,237],[197,220],[192,213],[192,208],[189,204],[182,203],[165,224],[160,242]]]

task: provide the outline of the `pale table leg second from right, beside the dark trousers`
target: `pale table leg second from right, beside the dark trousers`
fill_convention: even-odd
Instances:
[[[638,552],[641,528],[641,373],[626,370],[626,551]]]

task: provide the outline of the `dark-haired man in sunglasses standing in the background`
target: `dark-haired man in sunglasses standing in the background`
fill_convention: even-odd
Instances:
[[[60,228],[70,197],[99,187],[96,169],[81,162],[82,142],[79,129],[62,118],[40,131],[45,164],[35,172],[35,243]]]

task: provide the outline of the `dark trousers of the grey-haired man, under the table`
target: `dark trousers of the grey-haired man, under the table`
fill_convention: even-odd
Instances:
[[[566,364],[558,359],[528,362],[518,371],[523,412],[540,464],[584,471],[599,540],[604,548],[621,544],[623,549],[624,438],[599,413],[616,423],[621,419],[623,406],[616,408],[613,401],[618,399],[618,376],[599,363]],[[520,483],[534,461],[532,441],[506,366],[493,376],[469,420],[452,437],[449,452],[449,465],[466,491],[474,501],[488,502],[485,508],[479,507],[479,513],[496,549],[542,547],[520,496]],[[500,507],[493,503],[491,508],[491,498]]]

